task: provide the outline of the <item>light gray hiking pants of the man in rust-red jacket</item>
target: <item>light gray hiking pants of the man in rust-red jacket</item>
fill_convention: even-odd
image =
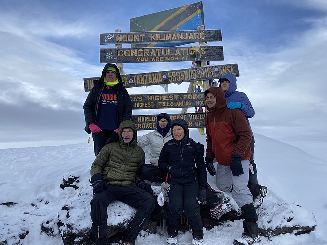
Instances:
[[[221,191],[231,192],[233,199],[239,207],[253,203],[253,196],[247,187],[250,161],[241,161],[243,174],[234,176],[230,166],[217,164],[216,184]]]

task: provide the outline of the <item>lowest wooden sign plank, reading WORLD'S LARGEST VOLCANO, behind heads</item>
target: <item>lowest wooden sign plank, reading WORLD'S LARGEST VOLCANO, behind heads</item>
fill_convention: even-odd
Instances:
[[[204,128],[207,113],[169,114],[171,120],[182,118],[186,120],[189,128]],[[154,130],[156,128],[157,115],[132,115],[132,121],[137,130]]]

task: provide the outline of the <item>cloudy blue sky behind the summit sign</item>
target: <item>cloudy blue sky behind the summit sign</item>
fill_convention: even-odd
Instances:
[[[2,0],[0,148],[86,142],[83,78],[100,76],[99,49],[114,47],[100,46],[99,34],[129,32],[130,18],[195,2]],[[238,90],[256,110],[254,132],[324,158],[327,1],[203,0],[203,6],[205,28],[222,30],[223,41],[210,45],[223,45],[224,61],[210,64],[238,64]],[[190,66],[128,63],[123,68],[131,74]],[[174,92],[187,88],[187,83],[169,85]],[[164,90],[149,86],[142,93]]]

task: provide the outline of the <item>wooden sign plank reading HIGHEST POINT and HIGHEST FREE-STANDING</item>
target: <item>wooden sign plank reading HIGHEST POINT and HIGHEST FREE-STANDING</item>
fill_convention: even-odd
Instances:
[[[204,92],[180,94],[135,94],[130,95],[130,98],[133,103],[133,110],[206,106]]]

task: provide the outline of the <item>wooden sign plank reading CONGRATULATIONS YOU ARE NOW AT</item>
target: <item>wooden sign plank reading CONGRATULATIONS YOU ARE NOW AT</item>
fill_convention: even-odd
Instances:
[[[199,61],[223,61],[223,46],[201,46]],[[100,63],[193,61],[192,47],[101,48]]]

